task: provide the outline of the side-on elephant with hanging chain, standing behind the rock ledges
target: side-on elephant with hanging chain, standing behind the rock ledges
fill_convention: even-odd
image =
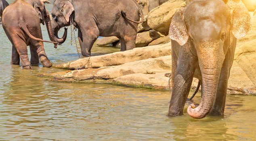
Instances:
[[[137,26],[144,20],[135,0],[72,0],[72,3],[56,0],[52,9],[52,30],[56,37],[61,27],[70,25],[71,17],[85,57],[91,56],[92,45],[99,36],[118,37],[121,51],[135,48]]]

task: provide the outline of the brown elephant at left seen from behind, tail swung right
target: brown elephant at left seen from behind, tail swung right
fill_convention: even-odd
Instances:
[[[51,40],[52,27],[48,11],[43,1],[40,0],[16,0],[5,8],[2,16],[2,26],[13,45],[11,64],[21,63],[23,68],[31,68],[31,64],[38,64],[39,58],[44,67],[52,66],[44,51],[42,31],[40,23],[48,30]],[[51,36],[50,36],[51,35]],[[45,41],[58,44],[57,42]],[[31,60],[27,55],[27,46],[30,47]]]

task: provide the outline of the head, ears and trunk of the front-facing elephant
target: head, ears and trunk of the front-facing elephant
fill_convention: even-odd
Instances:
[[[203,97],[199,106],[187,109],[191,117],[204,118],[212,109],[227,50],[250,27],[250,15],[240,2],[231,9],[222,0],[193,1],[175,13],[169,37],[182,47],[191,44],[201,70]]]

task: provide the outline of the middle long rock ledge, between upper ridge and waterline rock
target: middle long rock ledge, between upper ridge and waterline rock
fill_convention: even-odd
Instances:
[[[73,78],[75,80],[88,79],[115,79],[124,75],[141,73],[155,74],[156,72],[168,71],[172,66],[171,56],[161,56],[158,58],[148,58],[134,62],[127,62],[118,66],[108,66],[96,69],[75,70],[62,76],[62,78]]]

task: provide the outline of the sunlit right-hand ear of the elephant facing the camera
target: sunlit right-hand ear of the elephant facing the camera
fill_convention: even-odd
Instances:
[[[251,29],[251,17],[246,8],[237,7],[234,8],[231,15],[231,31],[235,38],[241,39]]]

